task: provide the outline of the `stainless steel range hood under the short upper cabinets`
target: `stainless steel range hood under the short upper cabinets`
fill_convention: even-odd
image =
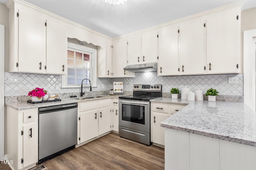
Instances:
[[[128,65],[128,66],[124,67],[124,70],[130,71],[130,72],[157,71],[157,63],[146,63],[146,64]]]

